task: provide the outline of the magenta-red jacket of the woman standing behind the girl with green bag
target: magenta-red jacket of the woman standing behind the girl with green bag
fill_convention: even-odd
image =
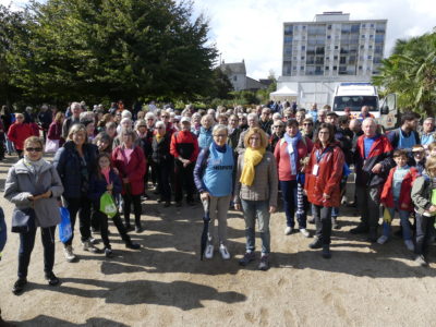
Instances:
[[[122,152],[122,145],[117,146],[112,152],[112,162],[120,172],[120,178],[129,179],[130,193],[132,195],[143,194],[144,192],[144,174],[146,167],[146,159],[144,152],[141,147],[135,146],[132,157],[128,165],[125,165]],[[126,184],[123,183],[122,194],[126,192]]]

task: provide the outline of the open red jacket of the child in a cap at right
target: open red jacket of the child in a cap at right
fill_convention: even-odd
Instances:
[[[380,195],[380,203],[388,207],[393,208],[393,195],[392,195],[392,183],[393,183],[393,173],[396,172],[397,167],[393,167],[389,171],[388,179],[386,180],[385,185],[383,186],[382,195]],[[413,211],[413,204],[411,198],[412,192],[412,184],[415,179],[420,175],[420,172],[416,168],[410,168],[409,172],[405,174],[402,183],[401,183],[401,191],[400,191],[400,209],[404,211]]]

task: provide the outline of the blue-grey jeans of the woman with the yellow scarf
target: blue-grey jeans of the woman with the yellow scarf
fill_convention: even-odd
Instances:
[[[245,201],[241,199],[242,211],[245,219],[245,238],[246,251],[253,252],[255,249],[256,218],[262,240],[262,253],[270,252],[270,234],[269,234],[269,201]]]

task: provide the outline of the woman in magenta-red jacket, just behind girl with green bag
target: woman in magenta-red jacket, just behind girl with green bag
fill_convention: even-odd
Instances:
[[[125,228],[132,230],[130,225],[130,209],[133,203],[135,214],[135,231],[143,231],[141,226],[141,194],[144,192],[144,174],[146,160],[143,149],[135,145],[136,133],[132,130],[121,130],[120,145],[112,152],[112,162],[120,173],[123,184],[123,213]]]

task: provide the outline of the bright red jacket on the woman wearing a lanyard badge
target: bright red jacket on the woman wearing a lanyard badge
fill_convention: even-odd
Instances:
[[[327,150],[317,162],[317,155],[323,153],[319,143],[314,148],[306,166],[306,178],[304,190],[310,203],[323,207],[339,207],[340,205],[340,181],[343,173],[344,156],[337,143],[327,146]],[[318,172],[313,174],[314,166],[318,165]],[[330,197],[323,199],[323,193]]]

